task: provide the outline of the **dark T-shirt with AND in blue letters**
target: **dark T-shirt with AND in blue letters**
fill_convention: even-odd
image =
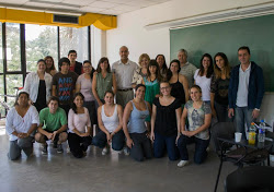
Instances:
[[[53,77],[53,85],[56,86],[57,97],[61,105],[70,105],[78,75],[75,72],[62,74],[58,72]]]

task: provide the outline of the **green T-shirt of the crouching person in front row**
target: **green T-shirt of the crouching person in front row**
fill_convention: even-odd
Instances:
[[[43,124],[42,129],[44,130],[56,131],[68,123],[67,115],[60,107],[58,107],[55,113],[50,113],[47,107],[39,111],[39,123]]]

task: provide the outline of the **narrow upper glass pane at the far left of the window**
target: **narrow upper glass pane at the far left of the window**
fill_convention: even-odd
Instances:
[[[21,71],[20,24],[7,23],[7,70]]]

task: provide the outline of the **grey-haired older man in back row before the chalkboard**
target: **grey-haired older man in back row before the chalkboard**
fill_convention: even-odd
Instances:
[[[180,73],[187,79],[189,87],[191,88],[194,83],[193,76],[197,68],[187,61],[187,51],[185,49],[178,51],[178,60],[181,63]]]

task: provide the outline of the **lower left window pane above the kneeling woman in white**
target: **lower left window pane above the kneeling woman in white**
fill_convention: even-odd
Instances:
[[[7,95],[10,95],[10,97],[7,97],[7,103],[9,106],[13,106],[18,94],[18,91],[14,87],[23,86],[23,75],[8,74],[5,81],[9,82],[7,83]]]

